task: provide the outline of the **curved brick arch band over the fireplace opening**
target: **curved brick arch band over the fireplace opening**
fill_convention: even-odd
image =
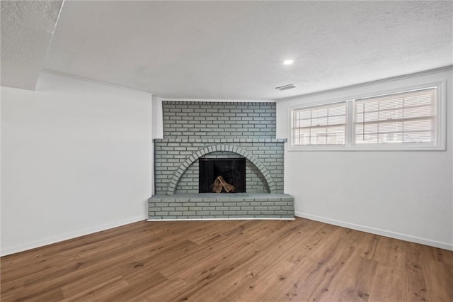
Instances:
[[[233,145],[212,145],[198,150],[197,152],[193,153],[193,155],[190,155],[182,164],[180,164],[178,169],[176,169],[176,172],[173,174],[173,177],[171,178],[170,182],[168,183],[166,194],[173,195],[175,193],[180,178],[183,176],[185,170],[188,169],[188,167],[190,167],[190,165],[193,164],[195,160],[198,160],[203,155],[207,155],[209,153],[218,151],[234,152],[245,157],[247,160],[249,160],[252,164],[255,165],[255,167],[260,171],[261,174],[263,174],[263,177],[265,178],[270,193],[272,194],[277,193],[275,182],[273,178],[270,176],[268,169],[266,169],[266,167],[260,162],[260,160],[258,160],[258,158],[252,155],[251,152],[248,152],[247,150],[241,147]]]

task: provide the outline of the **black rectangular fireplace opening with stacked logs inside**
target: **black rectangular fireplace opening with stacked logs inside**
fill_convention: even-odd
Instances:
[[[200,158],[199,162],[199,193],[246,192],[245,158]]]

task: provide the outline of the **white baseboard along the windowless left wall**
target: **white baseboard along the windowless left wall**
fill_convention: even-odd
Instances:
[[[80,237],[80,236],[84,236],[84,235],[88,235],[88,234],[92,234],[92,233],[96,233],[96,232],[101,232],[102,230],[108,230],[110,228],[117,228],[121,225],[127,225],[129,223],[136,223],[137,221],[142,221],[145,219],[147,219],[146,216],[137,216],[137,217],[122,220],[122,221],[116,222],[116,223],[108,223],[105,225],[99,225],[95,228],[88,228],[86,230],[81,230],[81,231],[74,232],[74,233],[64,234],[64,235],[51,237],[51,238],[47,238],[44,240],[38,240],[38,241],[34,241],[34,242],[28,242],[24,245],[16,245],[13,247],[6,247],[6,248],[1,247],[1,256],[3,257],[6,255],[14,254],[16,252],[23,252],[25,250],[31,250],[31,249],[34,249],[35,247],[42,247],[44,245],[51,245],[52,243],[69,240],[69,239],[73,239],[75,237]]]

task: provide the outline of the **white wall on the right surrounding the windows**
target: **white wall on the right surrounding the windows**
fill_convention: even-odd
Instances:
[[[447,80],[446,151],[290,151],[285,193],[296,215],[453,250],[452,69],[277,102],[277,137],[289,107]]]

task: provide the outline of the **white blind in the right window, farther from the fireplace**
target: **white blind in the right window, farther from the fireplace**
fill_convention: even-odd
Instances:
[[[437,88],[355,101],[355,143],[436,141]]]

